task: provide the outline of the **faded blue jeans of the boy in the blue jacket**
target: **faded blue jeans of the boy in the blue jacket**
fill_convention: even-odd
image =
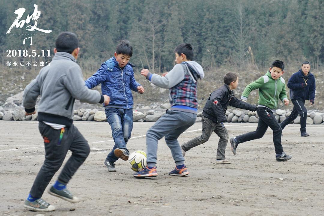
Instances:
[[[125,149],[128,152],[126,144],[131,138],[133,130],[133,109],[106,108],[105,112],[115,142],[106,160],[115,162],[118,160],[118,157],[114,154],[116,148]]]

